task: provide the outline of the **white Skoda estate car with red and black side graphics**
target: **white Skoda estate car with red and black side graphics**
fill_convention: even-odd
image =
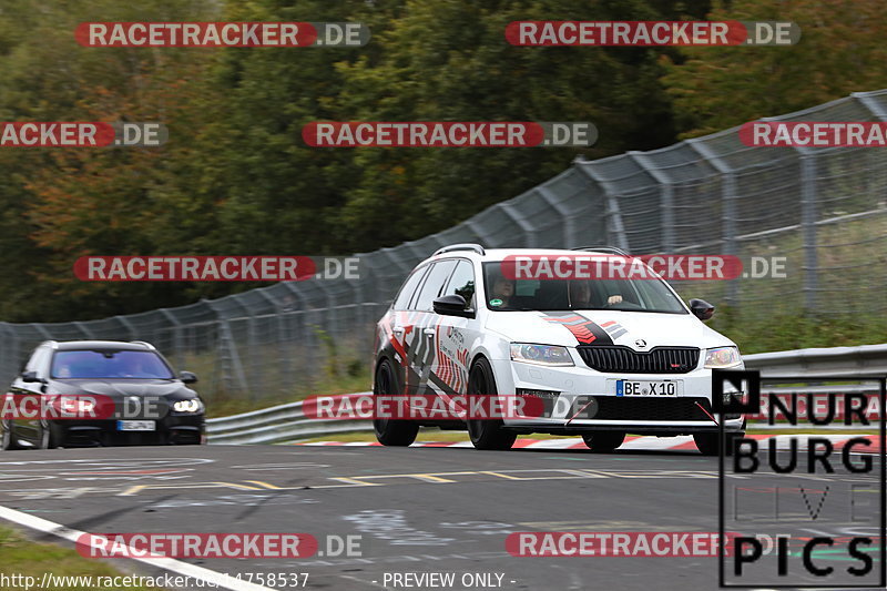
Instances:
[[[582,254],[628,256],[614,248]],[[580,435],[612,451],[626,434],[693,435],[717,454],[717,420],[730,437],[740,415],[715,417],[712,369],[743,368],[736,345],[703,324],[713,306],[687,306],[659,275],[539,279],[508,273],[517,256],[575,257],[578,251],[437,251],[407,277],[376,332],[374,393],[516,396],[533,416],[497,419],[375,419],[378,440],[410,445],[421,426],[468,429],[478,449],[508,449],[518,435]],[[435,398],[437,399],[437,398]]]

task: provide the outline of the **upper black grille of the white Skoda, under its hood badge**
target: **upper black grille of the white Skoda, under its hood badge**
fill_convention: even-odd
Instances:
[[[622,346],[578,347],[585,365],[598,371],[625,371],[631,374],[686,374],[700,361],[695,347],[655,347],[636,351]]]

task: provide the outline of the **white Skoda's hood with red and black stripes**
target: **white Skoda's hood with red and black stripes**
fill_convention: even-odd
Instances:
[[[514,343],[544,345],[625,345],[649,350],[660,346],[720,347],[732,340],[692,314],[621,310],[493,312],[487,328]],[[643,340],[641,347],[638,340]]]

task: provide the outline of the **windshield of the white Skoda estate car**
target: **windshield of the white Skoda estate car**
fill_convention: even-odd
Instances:
[[[510,279],[502,264],[483,263],[487,307],[497,312],[609,309],[687,314],[660,278]]]

